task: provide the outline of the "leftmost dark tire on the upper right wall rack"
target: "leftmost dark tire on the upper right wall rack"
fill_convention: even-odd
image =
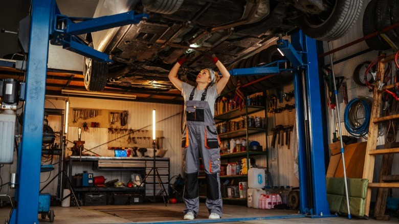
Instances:
[[[363,36],[367,36],[370,33],[373,33],[377,30],[376,21],[375,21],[376,19],[375,10],[377,3],[379,3],[378,0],[371,0],[371,2],[368,3],[366,9],[364,10]],[[371,37],[365,41],[367,46],[372,50],[381,51],[381,50],[388,50],[391,48],[389,44],[380,35]]]

